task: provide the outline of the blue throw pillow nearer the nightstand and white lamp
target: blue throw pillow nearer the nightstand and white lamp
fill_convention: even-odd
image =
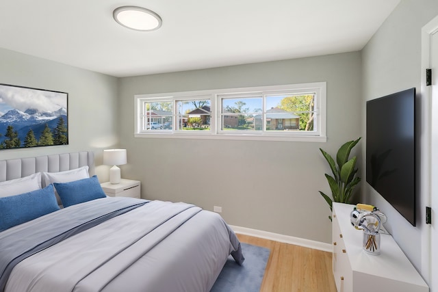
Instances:
[[[97,176],[79,179],[79,181],[70,181],[69,183],[53,183],[53,185],[55,185],[64,207],[106,198]]]

